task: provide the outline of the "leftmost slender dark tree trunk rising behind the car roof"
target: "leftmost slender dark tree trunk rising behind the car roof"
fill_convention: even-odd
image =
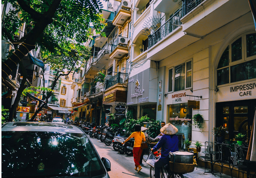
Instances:
[[[25,67],[23,66],[22,62],[20,62],[20,69],[22,71],[23,79],[22,79],[20,88],[17,92],[14,103],[13,103],[11,109],[10,109],[10,115],[9,115],[9,118],[8,118],[8,122],[12,122],[12,120],[14,118],[15,111],[18,107],[19,102],[20,102],[21,94],[22,94],[23,90],[25,90],[25,88],[27,87],[26,80],[27,80],[28,75],[27,75],[27,71],[26,71]]]

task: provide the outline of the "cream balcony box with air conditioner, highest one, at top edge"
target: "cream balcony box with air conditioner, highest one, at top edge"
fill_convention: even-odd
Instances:
[[[131,9],[132,5],[131,2],[122,1],[121,4],[118,6],[117,10],[115,11],[115,18],[113,20],[114,26],[123,27],[126,20],[131,17]]]

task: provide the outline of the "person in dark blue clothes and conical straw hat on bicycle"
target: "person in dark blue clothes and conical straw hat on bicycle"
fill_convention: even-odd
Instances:
[[[156,178],[160,177],[160,168],[169,164],[169,152],[179,151],[178,135],[175,134],[178,132],[178,128],[168,123],[161,128],[160,132],[163,133],[163,136],[155,147],[151,149],[151,151],[155,152],[161,148],[161,157],[155,163]]]

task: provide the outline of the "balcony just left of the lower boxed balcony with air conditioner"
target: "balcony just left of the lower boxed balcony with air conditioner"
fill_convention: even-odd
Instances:
[[[98,67],[104,67],[109,62],[109,54],[111,52],[111,44],[106,44],[99,52],[94,51],[92,64],[97,64]]]

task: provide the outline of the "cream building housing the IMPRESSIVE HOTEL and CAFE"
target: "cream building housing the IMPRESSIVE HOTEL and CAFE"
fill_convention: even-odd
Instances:
[[[213,127],[223,125],[225,139],[242,132],[248,141],[256,107],[256,34],[249,3],[133,3],[137,15],[127,105],[136,109],[137,104],[141,116],[146,113],[143,102],[152,102],[156,119],[177,126],[180,140],[185,133],[193,143],[214,141]],[[204,118],[202,130],[191,125],[195,114]],[[190,123],[186,128],[184,120]]]

